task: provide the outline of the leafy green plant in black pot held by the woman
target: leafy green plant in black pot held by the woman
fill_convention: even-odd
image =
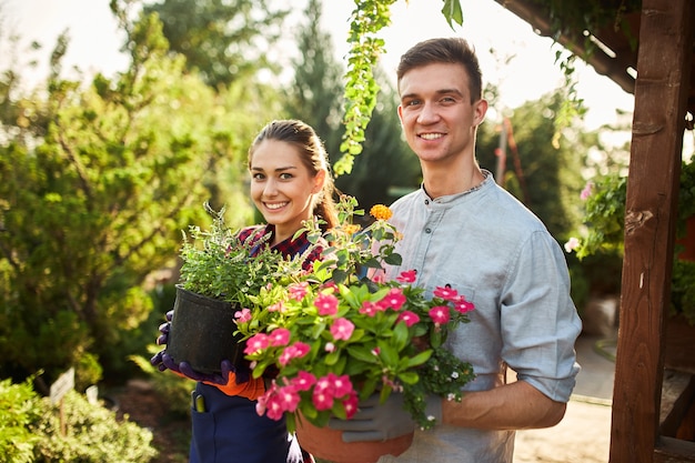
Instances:
[[[167,352],[202,373],[220,372],[223,360],[243,363],[243,339],[234,334],[234,312],[266,284],[301,271],[301,260],[239,239],[225,224],[224,209],[214,211],[209,230],[183,233],[181,281],[177,284]]]

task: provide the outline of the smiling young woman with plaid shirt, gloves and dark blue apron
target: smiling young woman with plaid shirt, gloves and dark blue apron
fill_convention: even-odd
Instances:
[[[338,224],[333,202],[334,184],[323,143],[306,123],[276,120],[265,125],[249,149],[250,195],[266,224],[243,229],[240,238],[251,244],[263,242],[284,255],[298,255],[309,248],[305,234],[292,240],[302,222],[316,217],[326,228]],[[248,241],[251,240],[251,241]],[[305,261],[319,259],[314,249]],[[168,314],[170,318],[170,314]],[[158,344],[165,344],[169,324],[160,328]],[[284,421],[259,416],[255,400],[263,394],[263,379],[230,371],[201,374],[187,364],[177,364],[163,351],[152,358],[160,370],[170,369],[198,381],[195,396],[204,410],[192,410],[193,434],[190,463],[301,463],[302,455]],[[243,376],[243,378],[242,378]]]

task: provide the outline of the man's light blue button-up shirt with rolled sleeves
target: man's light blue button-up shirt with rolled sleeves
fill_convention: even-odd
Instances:
[[[475,304],[471,322],[447,340],[473,365],[476,379],[466,390],[502,384],[506,364],[518,380],[567,402],[580,371],[574,343],[582,323],[564,254],[545,225],[484,173],[465,193],[433,200],[420,189],[391,207],[403,262],[386,269],[386,278],[414,269],[415,284],[430,295],[450,284]],[[380,463],[511,463],[513,449],[513,431],[437,425],[417,431],[407,452]]]

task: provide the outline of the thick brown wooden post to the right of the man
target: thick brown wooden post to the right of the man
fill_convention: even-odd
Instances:
[[[693,46],[692,0],[643,0],[611,463],[653,463]],[[692,461],[692,460],[683,460]]]

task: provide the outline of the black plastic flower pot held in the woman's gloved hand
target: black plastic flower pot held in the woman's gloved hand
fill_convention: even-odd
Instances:
[[[238,306],[207,298],[177,285],[173,319],[167,353],[177,363],[188,362],[201,373],[220,373],[223,360],[245,363],[240,335],[234,335]]]

